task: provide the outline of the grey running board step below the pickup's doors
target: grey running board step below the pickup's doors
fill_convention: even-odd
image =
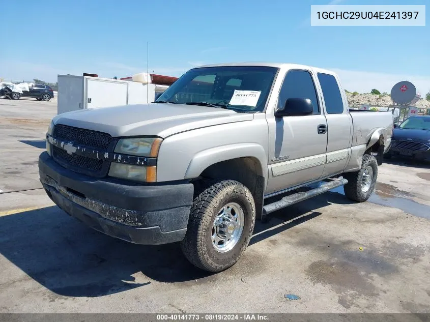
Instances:
[[[326,182],[319,186],[318,188],[314,188],[312,190],[306,191],[306,192],[297,192],[292,195],[283,197],[279,201],[275,201],[269,204],[266,204],[263,207],[263,216],[268,215],[270,213],[273,213],[274,211],[277,211],[279,209],[291,206],[292,204],[295,204],[297,202],[309,199],[311,197],[317,196],[319,194],[322,194],[324,192],[327,192],[331,189],[346,185],[348,183],[348,180],[346,179],[334,179],[332,181]]]

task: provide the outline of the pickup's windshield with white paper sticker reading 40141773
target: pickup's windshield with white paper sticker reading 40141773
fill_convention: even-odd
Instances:
[[[274,67],[223,66],[186,72],[156,102],[222,107],[237,111],[264,110]]]

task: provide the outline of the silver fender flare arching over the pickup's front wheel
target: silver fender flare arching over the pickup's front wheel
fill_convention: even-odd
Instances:
[[[207,167],[215,163],[246,157],[255,158],[260,162],[266,186],[268,178],[267,155],[263,147],[257,143],[236,143],[200,151],[192,157],[184,179],[197,178]]]

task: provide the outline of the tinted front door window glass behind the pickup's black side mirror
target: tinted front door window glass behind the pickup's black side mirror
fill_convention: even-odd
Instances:
[[[313,105],[313,114],[320,114],[317,91],[308,71],[292,70],[285,75],[279,92],[278,108],[284,106],[285,101],[289,98],[310,99]]]

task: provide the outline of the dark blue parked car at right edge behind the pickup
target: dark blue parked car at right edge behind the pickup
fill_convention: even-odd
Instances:
[[[405,156],[430,161],[430,116],[411,116],[393,130],[386,158]]]

